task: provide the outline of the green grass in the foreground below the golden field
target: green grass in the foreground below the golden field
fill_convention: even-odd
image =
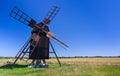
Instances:
[[[28,68],[27,65],[1,66],[0,76],[120,76],[120,66],[89,64],[50,64],[48,68]]]

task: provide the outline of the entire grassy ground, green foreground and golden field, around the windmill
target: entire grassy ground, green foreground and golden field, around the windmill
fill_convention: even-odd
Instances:
[[[6,66],[7,61],[0,59],[0,76],[120,76],[120,58],[70,58],[47,60],[48,68],[28,68],[27,63],[18,61],[14,67]]]

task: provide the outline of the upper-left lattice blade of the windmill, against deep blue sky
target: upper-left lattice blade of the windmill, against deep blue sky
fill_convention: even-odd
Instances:
[[[33,25],[36,24],[35,20],[33,20],[26,13],[18,9],[16,6],[12,9],[10,16],[23,24],[29,25],[30,27],[33,27]]]

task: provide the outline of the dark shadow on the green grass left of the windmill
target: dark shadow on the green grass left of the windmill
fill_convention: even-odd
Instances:
[[[3,66],[0,66],[0,69],[12,69],[12,68],[25,68],[28,65],[20,65],[20,64],[6,64]]]

